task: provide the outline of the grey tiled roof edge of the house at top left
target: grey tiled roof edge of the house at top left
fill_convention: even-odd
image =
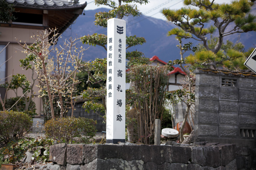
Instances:
[[[78,3],[78,0],[6,0],[15,6],[35,8],[70,8],[84,6],[85,3]],[[86,6],[86,5],[85,5]]]

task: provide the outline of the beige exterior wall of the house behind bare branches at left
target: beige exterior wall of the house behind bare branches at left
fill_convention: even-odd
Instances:
[[[16,38],[18,41],[21,40],[21,42],[26,43],[33,43],[34,40],[30,38],[33,33],[37,34],[38,30],[35,29],[24,29],[24,28],[7,28],[7,27],[0,27],[0,42],[1,43],[8,43],[10,44],[7,46],[7,56],[8,56],[8,62],[6,64],[7,67],[7,75],[12,74],[12,70],[14,70],[15,74],[24,74],[26,75],[27,79],[31,81],[32,72],[30,70],[22,69],[20,67],[20,61],[21,59],[24,59],[26,55],[24,53],[21,53],[22,47],[17,44]],[[10,80],[10,77],[7,79]],[[32,81],[31,81],[32,82]],[[37,82],[36,82],[37,84]],[[38,92],[37,87],[34,86],[34,92]],[[18,95],[22,96],[22,89],[20,88],[18,91]],[[30,94],[29,94],[30,95]],[[9,90],[7,93],[7,98],[15,97],[15,93],[12,90]],[[41,98],[35,97],[33,101],[36,103],[37,108],[37,114],[40,115],[40,111],[42,108],[41,104]]]

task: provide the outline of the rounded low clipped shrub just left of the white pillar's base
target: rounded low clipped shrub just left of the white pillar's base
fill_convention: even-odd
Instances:
[[[82,143],[89,143],[96,134],[96,121],[87,118],[57,118],[48,120],[44,124],[46,136],[57,140],[58,143],[71,143],[79,137]]]

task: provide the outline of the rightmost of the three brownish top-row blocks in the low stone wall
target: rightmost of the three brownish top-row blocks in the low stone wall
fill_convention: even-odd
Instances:
[[[98,145],[84,146],[84,163],[87,164],[98,158]]]

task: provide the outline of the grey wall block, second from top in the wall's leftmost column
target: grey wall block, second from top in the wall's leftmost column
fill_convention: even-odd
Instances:
[[[196,86],[197,93],[195,97],[207,97],[207,98],[219,98],[219,88],[218,87],[209,87],[209,86]]]

